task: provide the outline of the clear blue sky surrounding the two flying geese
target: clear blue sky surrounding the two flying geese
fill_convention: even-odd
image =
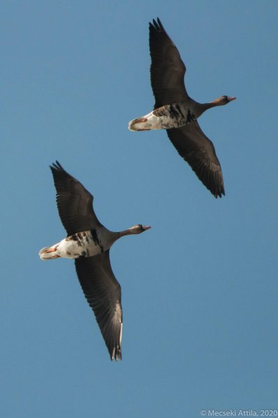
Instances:
[[[153,108],[159,16],[222,164],[214,197]],[[5,418],[181,418],[277,408],[277,1],[2,1],[1,394]],[[111,363],[65,237],[49,164],[95,196],[100,222],[153,228],[111,249],[123,361]]]

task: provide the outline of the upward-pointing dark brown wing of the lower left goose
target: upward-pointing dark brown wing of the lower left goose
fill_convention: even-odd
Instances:
[[[93,211],[91,193],[76,178],[70,176],[58,161],[50,169],[56,187],[59,215],[68,236],[100,226]]]

